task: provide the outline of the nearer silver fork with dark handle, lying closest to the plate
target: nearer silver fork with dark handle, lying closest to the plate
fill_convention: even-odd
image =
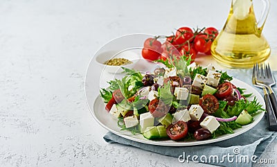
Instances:
[[[259,70],[258,64],[254,65],[253,67],[253,73],[252,73],[252,83],[256,87],[260,87],[263,89],[265,94],[265,104],[267,109],[267,121],[269,123],[269,130],[271,131],[277,131],[277,118],[276,114],[274,113],[274,109],[271,105],[271,100],[269,98],[269,94],[267,94],[267,87],[262,82],[257,82],[257,78],[261,76],[260,73],[263,73],[263,70]],[[260,80],[258,80],[260,81]]]

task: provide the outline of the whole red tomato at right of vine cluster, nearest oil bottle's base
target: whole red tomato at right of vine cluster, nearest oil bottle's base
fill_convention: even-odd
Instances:
[[[211,50],[212,41],[207,35],[197,35],[194,40],[195,49],[199,52],[206,53]]]

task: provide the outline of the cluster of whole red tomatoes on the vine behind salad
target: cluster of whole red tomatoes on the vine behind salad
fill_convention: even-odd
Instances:
[[[218,30],[213,27],[192,30],[189,27],[179,28],[175,35],[166,36],[166,42],[161,44],[157,36],[148,38],[143,45],[142,55],[147,60],[167,60],[179,56],[191,56],[195,60],[197,53],[211,55],[211,44],[218,35]]]

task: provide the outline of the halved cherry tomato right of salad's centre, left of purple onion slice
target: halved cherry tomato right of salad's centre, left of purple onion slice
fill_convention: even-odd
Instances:
[[[204,109],[206,114],[213,114],[220,107],[217,98],[211,94],[203,96],[199,101],[199,105]]]

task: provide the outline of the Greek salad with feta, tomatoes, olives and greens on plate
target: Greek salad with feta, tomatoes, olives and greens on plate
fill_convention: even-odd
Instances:
[[[122,79],[100,89],[115,126],[151,140],[199,141],[234,133],[265,111],[232,76],[187,59],[159,60],[162,66],[147,73],[123,68]]]

